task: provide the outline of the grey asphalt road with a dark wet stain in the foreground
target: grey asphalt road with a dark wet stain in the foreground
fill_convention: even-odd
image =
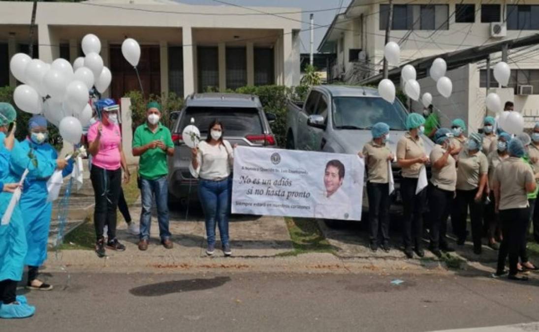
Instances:
[[[401,279],[400,285],[391,281]],[[539,321],[539,280],[379,274],[53,274],[1,331],[427,331]]]

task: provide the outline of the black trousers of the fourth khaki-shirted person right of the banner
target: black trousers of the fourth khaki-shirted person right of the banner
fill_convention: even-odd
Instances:
[[[455,235],[460,241],[466,240],[466,220],[468,219],[468,208],[470,210],[470,217],[472,219],[472,239],[474,248],[481,248],[481,236],[482,236],[482,219],[483,209],[485,205],[483,200],[475,202],[475,195],[477,195],[478,189],[473,190],[458,190],[457,198],[455,198],[456,220],[455,220]]]

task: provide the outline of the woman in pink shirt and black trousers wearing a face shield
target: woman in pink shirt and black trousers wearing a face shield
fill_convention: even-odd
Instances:
[[[126,247],[116,239],[116,206],[120,195],[122,168],[123,179],[129,182],[129,169],[122,150],[122,137],[118,127],[120,107],[112,99],[95,103],[101,121],[88,128],[88,151],[92,155],[90,179],[94,188],[94,226],[97,241],[95,252],[105,257],[103,227],[108,226],[107,248],[124,251]]]

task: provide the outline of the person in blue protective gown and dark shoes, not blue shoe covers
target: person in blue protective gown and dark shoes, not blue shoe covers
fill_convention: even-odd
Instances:
[[[47,181],[57,169],[63,170],[63,176],[71,174],[73,162],[58,158],[56,150],[47,143],[47,120],[41,115],[33,116],[29,121],[29,136],[19,143],[25,154],[31,153],[37,161],[37,169],[30,171],[24,182],[24,191],[20,197],[20,210],[24,211],[23,220],[26,231],[28,251],[24,261],[28,265],[28,283],[26,288],[48,291],[51,285],[37,279],[38,268],[47,258],[47,240],[51,225],[52,203],[47,202]],[[23,174],[27,165],[14,164],[16,174]]]

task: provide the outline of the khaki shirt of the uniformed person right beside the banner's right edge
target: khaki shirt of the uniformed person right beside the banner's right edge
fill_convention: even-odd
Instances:
[[[374,183],[388,183],[389,169],[388,157],[391,151],[386,144],[378,145],[374,141],[365,143],[363,156],[367,165],[367,181]]]

